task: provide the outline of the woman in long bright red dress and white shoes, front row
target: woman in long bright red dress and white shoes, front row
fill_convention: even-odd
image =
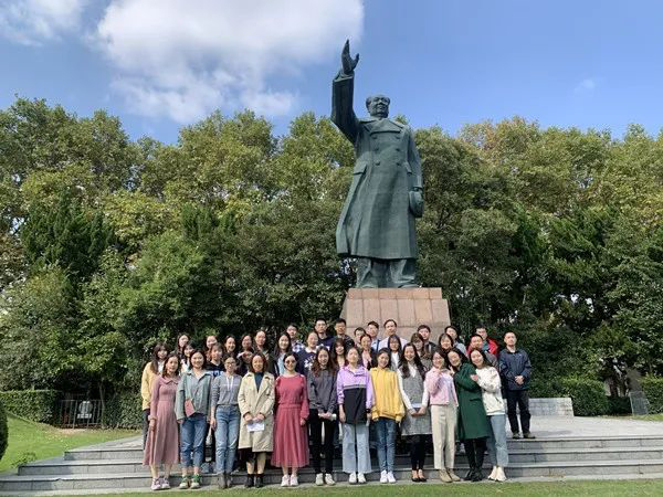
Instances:
[[[285,372],[276,379],[276,417],[272,464],[283,469],[282,487],[296,487],[297,469],[308,464],[308,393],[306,378],[295,371],[297,359],[288,352]],[[292,469],[292,475],[288,474]]]

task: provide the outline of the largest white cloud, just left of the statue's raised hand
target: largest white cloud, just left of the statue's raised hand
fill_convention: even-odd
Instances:
[[[112,0],[96,39],[135,113],[190,123],[214,108],[288,113],[296,92],[267,81],[339,54],[362,20],[361,0]]]

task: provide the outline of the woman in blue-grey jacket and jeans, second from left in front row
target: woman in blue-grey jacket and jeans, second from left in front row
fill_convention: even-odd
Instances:
[[[191,353],[191,370],[182,374],[177,385],[175,412],[180,424],[180,451],[182,482],[180,488],[200,488],[200,466],[204,456],[204,436],[211,421],[210,394],[212,376],[204,370],[204,352],[200,349]],[[193,454],[193,457],[191,457]],[[189,469],[193,468],[193,478]]]

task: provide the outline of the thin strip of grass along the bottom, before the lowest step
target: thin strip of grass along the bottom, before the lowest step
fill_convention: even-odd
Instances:
[[[209,487],[208,487],[209,488]],[[274,495],[280,497],[349,497],[351,495],[361,495],[361,497],[391,497],[411,494],[419,496],[661,496],[663,495],[663,480],[639,479],[639,480],[617,480],[617,482],[554,482],[554,483],[506,483],[506,484],[453,484],[453,485],[367,485],[361,487],[325,487],[325,488],[262,488],[257,490],[245,490],[235,487],[232,490],[196,490],[196,495],[219,496],[221,494],[238,495],[240,493],[251,493],[253,495]],[[141,496],[145,494],[105,494],[104,497],[116,495],[122,497]],[[155,493],[151,493],[154,495]],[[189,493],[187,493],[189,495]]]

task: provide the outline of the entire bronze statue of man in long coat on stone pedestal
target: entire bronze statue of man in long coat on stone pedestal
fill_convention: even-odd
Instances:
[[[332,120],[355,146],[350,191],[336,229],[336,251],[357,257],[357,287],[414,287],[417,233],[423,215],[421,161],[409,126],[389,119],[385,95],[366,99],[370,117],[352,109],[355,67],[346,41],[332,85]]]

